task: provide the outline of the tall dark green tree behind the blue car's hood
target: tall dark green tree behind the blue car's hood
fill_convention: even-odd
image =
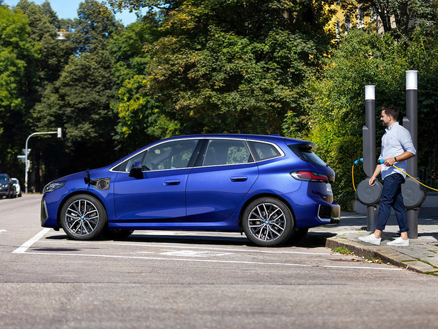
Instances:
[[[74,55],[68,57],[59,78],[47,86],[32,112],[35,129],[63,127],[65,131],[64,144],[47,143],[42,150],[45,182],[86,167],[104,166],[118,157],[108,152],[114,150],[116,116],[111,103],[118,88],[108,42],[122,26],[98,1],[81,3],[78,17],[74,32],[67,35]],[[53,159],[54,150],[63,154],[58,161]]]

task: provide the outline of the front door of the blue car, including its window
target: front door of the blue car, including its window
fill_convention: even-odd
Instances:
[[[150,223],[184,217],[190,159],[197,143],[197,139],[161,143],[117,166],[125,170],[117,174],[114,184],[117,221]],[[141,161],[143,177],[129,177],[131,163],[136,161]]]

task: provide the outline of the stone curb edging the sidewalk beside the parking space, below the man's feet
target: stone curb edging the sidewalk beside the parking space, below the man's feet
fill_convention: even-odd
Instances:
[[[424,262],[420,262],[418,259],[382,246],[368,246],[355,241],[336,237],[325,239],[325,246],[330,249],[346,247],[359,257],[380,259],[384,263],[390,263],[417,273],[432,273],[438,271],[437,268]]]

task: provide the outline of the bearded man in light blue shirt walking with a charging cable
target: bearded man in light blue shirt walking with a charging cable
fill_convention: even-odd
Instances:
[[[398,125],[397,119],[398,111],[394,106],[382,107],[380,120],[382,120],[382,125],[386,128],[382,136],[382,151],[380,152],[379,160],[384,159],[384,163],[378,164],[375,167],[373,176],[369,180],[369,184],[374,186],[375,179],[382,173],[383,188],[382,196],[380,197],[378,223],[374,233],[359,237],[359,240],[372,243],[376,246],[380,245],[382,231],[391,214],[391,207],[394,208],[396,213],[401,234],[399,238],[387,244],[389,246],[409,246],[407,213],[401,193],[401,184],[405,182],[406,175],[392,165],[397,163],[396,166],[398,168],[406,171],[407,159],[414,157],[416,150],[412,143],[411,134],[409,134],[406,128]]]

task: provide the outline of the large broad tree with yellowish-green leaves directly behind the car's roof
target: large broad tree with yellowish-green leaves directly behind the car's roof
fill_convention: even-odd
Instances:
[[[323,30],[330,13],[318,1],[110,3],[161,8],[147,15],[165,35],[145,47],[143,95],[181,133],[279,133],[284,114],[301,111],[300,83],[332,38]]]

